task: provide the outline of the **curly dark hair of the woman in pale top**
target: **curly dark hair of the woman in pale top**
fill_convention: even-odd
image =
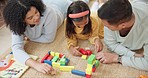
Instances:
[[[26,29],[25,16],[34,6],[40,15],[44,12],[44,4],[41,0],[9,0],[3,11],[3,17],[7,27],[17,35],[23,35]]]

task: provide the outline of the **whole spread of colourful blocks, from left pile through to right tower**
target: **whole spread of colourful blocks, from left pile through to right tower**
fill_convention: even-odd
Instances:
[[[88,56],[88,59],[87,59]],[[72,74],[83,76],[86,78],[91,78],[92,72],[95,72],[96,68],[99,66],[99,61],[96,60],[96,56],[91,53],[91,55],[82,55],[83,59],[87,59],[86,71],[75,70],[74,66],[67,66],[69,59],[66,58],[64,54],[49,51],[41,60],[41,63],[47,63],[52,67],[59,68],[60,71],[71,72]]]

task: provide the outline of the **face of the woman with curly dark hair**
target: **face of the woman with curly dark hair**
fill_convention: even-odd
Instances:
[[[36,25],[40,22],[40,13],[35,7],[31,7],[25,17],[25,22],[29,25]]]

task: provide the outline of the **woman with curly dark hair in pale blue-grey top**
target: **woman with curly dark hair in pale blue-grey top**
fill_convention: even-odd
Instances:
[[[53,69],[48,64],[39,63],[30,58],[24,50],[24,36],[31,41],[49,43],[54,40],[57,28],[63,23],[68,0],[9,0],[3,16],[12,33],[12,51],[14,58],[22,64],[33,67],[42,73]],[[49,5],[50,4],[50,5]],[[63,9],[64,8],[64,9]],[[54,19],[54,20],[53,20]]]

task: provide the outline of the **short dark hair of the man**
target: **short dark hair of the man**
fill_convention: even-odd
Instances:
[[[108,0],[100,9],[98,16],[109,24],[117,25],[132,18],[132,7],[128,0]]]

